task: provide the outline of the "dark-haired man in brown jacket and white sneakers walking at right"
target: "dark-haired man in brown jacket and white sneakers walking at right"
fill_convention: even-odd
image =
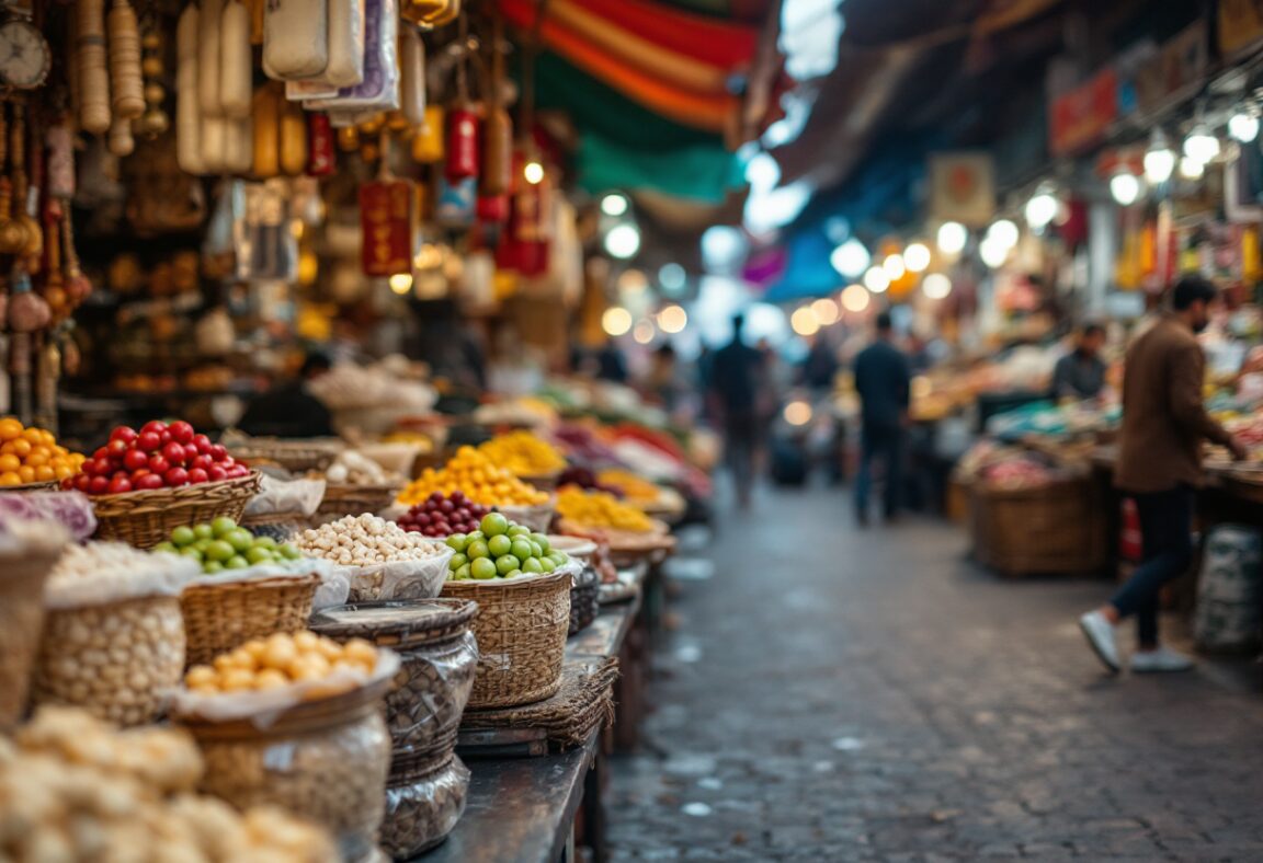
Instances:
[[[1215,286],[1181,279],[1162,320],[1132,344],[1123,375],[1123,429],[1115,484],[1135,498],[1144,561],[1114,598],[1079,618],[1087,643],[1111,672],[1119,670],[1114,627],[1135,616],[1133,671],[1183,671],[1192,661],[1158,642],[1158,593],[1192,563],[1195,488],[1201,484],[1204,440],[1226,445],[1234,458],[1245,448],[1206,415],[1206,360],[1196,333],[1210,320]]]

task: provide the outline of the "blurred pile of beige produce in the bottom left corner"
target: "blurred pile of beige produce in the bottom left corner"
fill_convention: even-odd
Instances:
[[[273,807],[197,794],[197,746],[169,728],[115,731],[69,708],[42,708],[0,738],[0,857],[49,860],[336,863],[328,835]]]

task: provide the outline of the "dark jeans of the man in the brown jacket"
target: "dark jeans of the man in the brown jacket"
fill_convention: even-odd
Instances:
[[[1195,492],[1180,486],[1164,492],[1135,495],[1140,516],[1144,560],[1110,604],[1120,617],[1135,614],[1140,647],[1158,646],[1158,598],[1162,585],[1178,578],[1192,563],[1192,507]]]

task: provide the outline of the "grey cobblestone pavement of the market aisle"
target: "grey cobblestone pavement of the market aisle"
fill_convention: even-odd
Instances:
[[[1263,860],[1259,674],[1105,678],[1075,618],[1108,583],[964,550],[840,492],[725,516],[615,761],[613,858]]]

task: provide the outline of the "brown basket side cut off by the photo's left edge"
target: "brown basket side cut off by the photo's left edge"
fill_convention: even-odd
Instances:
[[[16,724],[27,707],[44,623],[44,579],[59,554],[0,555],[0,731]]]

